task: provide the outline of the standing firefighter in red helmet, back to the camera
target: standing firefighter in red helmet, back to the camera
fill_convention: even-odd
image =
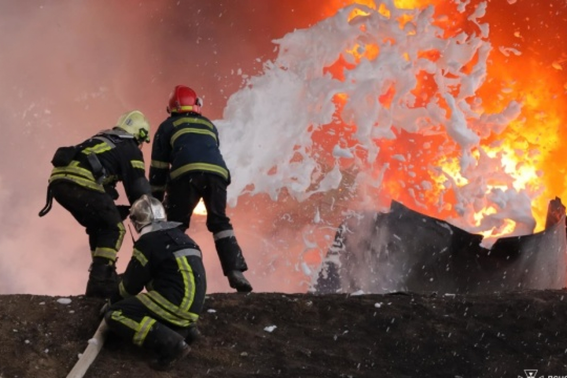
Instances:
[[[226,215],[226,188],[230,172],[219,150],[218,131],[201,114],[201,99],[189,87],[176,86],[159,125],[151,151],[150,186],[154,197],[164,201],[167,218],[189,227],[191,214],[202,198],[207,210],[206,226],[230,287],[252,291],[244,277],[248,269],[242,250]],[[165,196],[165,199],[164,199]]]

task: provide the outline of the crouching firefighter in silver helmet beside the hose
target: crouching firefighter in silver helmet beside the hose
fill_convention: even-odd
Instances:
[[[144,195],[134,202],[130,222],[140,236],[118,290],[103,308],[109,329],[155,352],[150,366],[157,370],[170,369],[189,353],[206,293],[200,248],[179,223],[166,219],[158,199]]]

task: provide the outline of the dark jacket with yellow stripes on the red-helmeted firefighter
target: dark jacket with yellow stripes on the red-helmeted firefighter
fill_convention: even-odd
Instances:
[[[168,180],[187,172],[209,172],[230,184],[230,172],[219,150],[218,130],[197,113],[172,114],[159,125],[151,150],[150,185],[156,197]]]

